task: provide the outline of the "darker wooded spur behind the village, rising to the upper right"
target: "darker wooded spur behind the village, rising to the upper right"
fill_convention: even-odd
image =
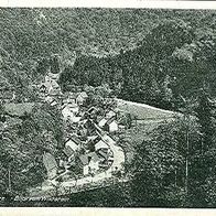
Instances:
[[[107,57],[78,56],[62,83],[108,83],[118,97],[166,109],[181,108],[182,98],[196,97],[201,88],[215,96],[215,13],[152,13],[161,19],[152,19],[134,48],[122,46]]]

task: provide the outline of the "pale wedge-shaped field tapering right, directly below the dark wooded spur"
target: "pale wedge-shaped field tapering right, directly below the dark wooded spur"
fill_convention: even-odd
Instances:
[[[131,116],[136,117],[138,120],[169,119],[180,116],[177,112],[159,109],[144,104],[131,102],[122,99],[116,100],[119,110],[131,114]]]

